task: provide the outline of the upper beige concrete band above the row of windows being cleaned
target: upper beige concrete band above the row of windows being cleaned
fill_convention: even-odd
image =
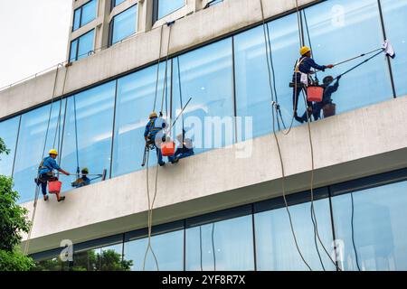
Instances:
[[[267,18],[295,9],[295,1],[263,2]],[[307,5],[312,2],[316,1],[300,0],[299,4]],[[198,11],[175,23],[169,52],[175,54],[185,51],[252,24],[260,23],[260,15],[260,1],[253,0],[225,1],[210,9]],[[166,53],[167,33],[168,27],[164,27],[161,55]],[[74,62],[70,68],[64,94],[88,88],[101,81],[155,62],[158,58],[159,39],[160,29],[153,29],[147,33],[139,33],[108,50]],[[2,103],[0,119],[49,101],[52,98],[54,74],[55,71],[51,71],[11,89],[0,91],[0,102]],[[62,81],[57,83],[56,91],[56,96],[62,94]]]

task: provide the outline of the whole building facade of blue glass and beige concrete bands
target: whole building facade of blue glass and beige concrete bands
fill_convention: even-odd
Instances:
[[[38,200],[23,247],[39,268],[407,269],[407,2],[262,6],[73,1],[71,66],[0,91],[0,136],[11,149],[0,173],[13,176],[30,218],[44,152],[58,149],[69,172],[107,172],[75,190],[74,177],[61,176],[66,200]],[[386,39],[396,57],[382,53],[345,74],[332,95],[336,116],[293,121],[289,82],[301,45],[329,64]],[[174,135],[184,128],[195,155],[157,167],[152,152],[142,167],[149,113],[174,120],[183,108]]]

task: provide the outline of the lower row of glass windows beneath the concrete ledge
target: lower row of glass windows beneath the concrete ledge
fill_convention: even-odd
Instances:
[[[353,181],[317,190],[324,192],[316,192],[314,205],[318,234],[327,252],[314,233],[309,191],[289,196],[298,247],[312,270],[323,270],[321,262],[325,270],[336,270],[329,256],[344,271],[407,270],[407,233],[403,224],[407,217],[407,181],[352,191],[376,183],[370,182]],[[341,191],[344,188],[346,191]],[[254,213],[245,206],[154,227],[151,246],[159,270],[308,271],[295,247],[282,200],[265,200],[252,206]],[[73,270],[143,270],[147,229],[115,239],[124,242],[112,245],[111,238],[106,238],[106,244],[98,240],[96,248],[77,245],[80,249],[74,252]],[[39,269],[66,268],[55,254],[44,253],[50,261],[39,259]],[[148,250],[146,270],[156,269],[154,256]]]

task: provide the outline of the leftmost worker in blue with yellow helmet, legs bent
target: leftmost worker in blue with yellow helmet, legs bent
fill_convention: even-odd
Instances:
[[[62,172],[65,175],[70,175],[69,172],[66,172],[62,170],[62,168],[56,163],[55,159],[58,155],[58,152],[54,149],[52,149],[49,152],[49,156],[45,157],[43,159],[43,162],[40,163],[40,167],[38,168],[38,175],[39,178],[35,179],[35,182],[37,185],[41,184],[41,189],[43,191],[43,200],[48,200],[48,195],[47,195],[47,183],[52,182],[52,181],[57,181],[58,178],[55,177],[53,170],[56,170],[58,172]],[[60,197],[59,193],[56,193],[57,200],[65,200],[65,197]]]

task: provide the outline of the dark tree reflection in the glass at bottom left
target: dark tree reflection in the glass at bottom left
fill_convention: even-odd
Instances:
[[[132,260],[122,260],[121,254],[115,250],[97,253],[89,250],[75,254],[72,271],[130,271]],[[35,271],[66,271],[69,262],[63,263],[59,258],[37,262]]]

